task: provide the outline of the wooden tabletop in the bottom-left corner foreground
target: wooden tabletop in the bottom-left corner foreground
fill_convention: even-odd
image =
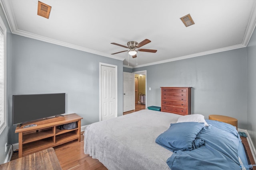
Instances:
[[[53,148],[45,149],[0,165],[1,170],[61,170]]]

